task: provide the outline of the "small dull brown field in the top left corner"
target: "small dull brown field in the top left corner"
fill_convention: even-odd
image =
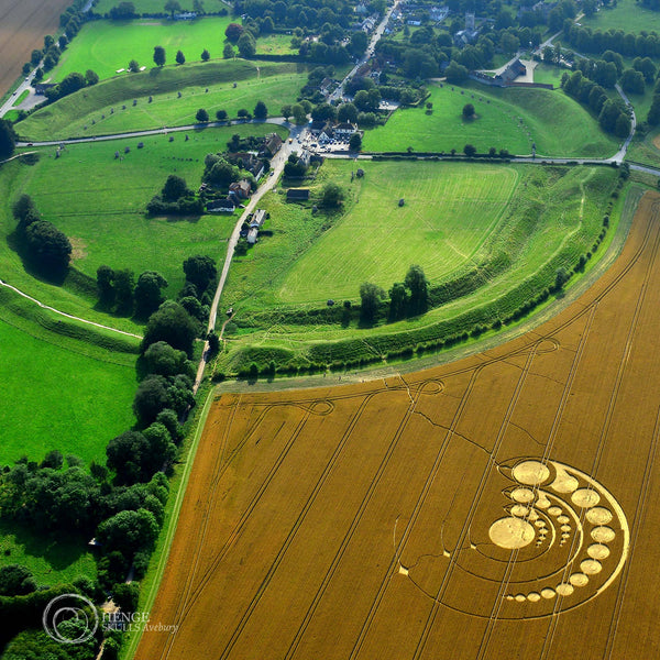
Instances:
[[[70,0],[2,0],[0,4],[0,96],[21,75],[34,48],[59,25],[59,14]]]

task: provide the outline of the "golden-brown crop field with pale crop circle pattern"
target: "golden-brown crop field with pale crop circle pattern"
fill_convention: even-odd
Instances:
[[[535,332],[350,387],[222,395],[140,660],[660,653],[660,196]]]

